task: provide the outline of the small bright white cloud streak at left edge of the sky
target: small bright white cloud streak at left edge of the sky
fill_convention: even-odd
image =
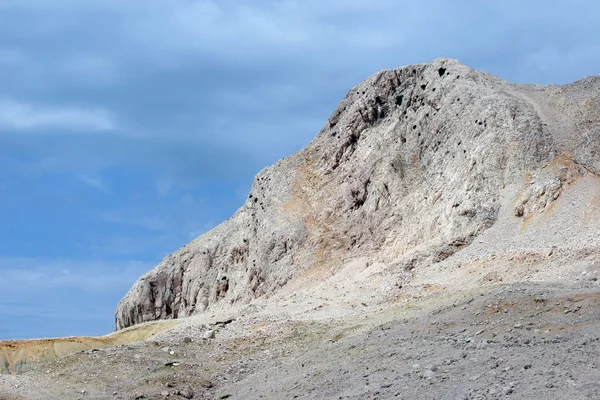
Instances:
[[[52,108],[0,100],[0,128],[110,131],[115,129],[115,123],[102,109]]]

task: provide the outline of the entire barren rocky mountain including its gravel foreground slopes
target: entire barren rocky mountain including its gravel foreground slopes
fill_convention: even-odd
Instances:
[[[379,72],[0,399],[598,399],[599,154],[600,77]]]

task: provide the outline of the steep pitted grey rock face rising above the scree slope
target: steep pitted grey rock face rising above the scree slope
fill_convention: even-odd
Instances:
[[[569,177],[600,174],[599,93],[597,77],[515,85],[449,59],[379,72],[262,170],[232,218],[142,276],[116,329],[249,302],[357,257],[409,280],[491,227],[508,188],[528,185],[514,199],[527,218]]]

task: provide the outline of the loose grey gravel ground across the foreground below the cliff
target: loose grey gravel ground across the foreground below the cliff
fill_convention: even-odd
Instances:
[[[597,288],[516,284],[339,319],[186,321],[1,376],[0,398],[597,399],[599,306]]]

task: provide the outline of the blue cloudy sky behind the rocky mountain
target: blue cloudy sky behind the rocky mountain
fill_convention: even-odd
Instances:
[[[600,75],[595,0],[0,0],[0,339],[103,335],[346,92],[451,57]]]

